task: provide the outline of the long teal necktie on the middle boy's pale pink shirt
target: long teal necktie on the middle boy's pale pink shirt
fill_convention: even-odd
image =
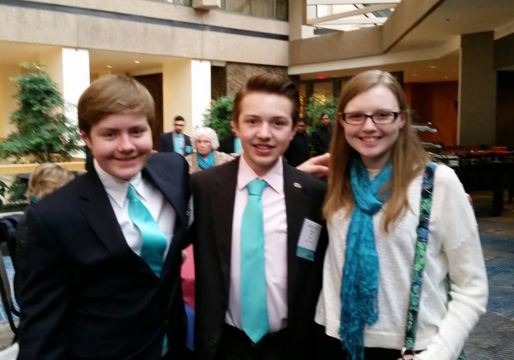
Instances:
[[[269,330],[261,198],[267,185],[255,179],[246,186],[248,203],[241,223],[241,324],[253,343]]]

